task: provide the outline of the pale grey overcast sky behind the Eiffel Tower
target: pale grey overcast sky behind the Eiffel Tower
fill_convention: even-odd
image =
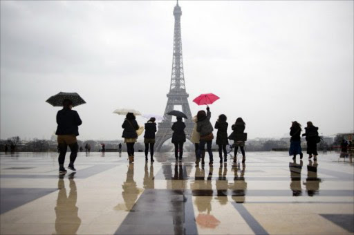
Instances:
[[[129,107],[162,115],[175,1],[1,1],[1,138],[50,138],[45,100],[77,92],[80,139],[116,140]],[[180,1],[189,105],[215,93],[212,122],[242,117],[249,138],[308,120],[353,130],[353,1]],[[139,123],[146,120],[138,118]]]

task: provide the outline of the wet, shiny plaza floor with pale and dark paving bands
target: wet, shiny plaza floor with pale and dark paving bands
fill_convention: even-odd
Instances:
[[[193,153],[153,164],[79,153],[59,177],[57,153],[1,153],[0,233],[353,234],[354,165],[338,157],[257,152],[196,167]]]

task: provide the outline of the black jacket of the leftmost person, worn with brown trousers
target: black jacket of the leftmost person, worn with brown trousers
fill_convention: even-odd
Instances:
[[[62,109],[57,113],[57,131],[55,135],[79,135],[79,126],[82,124],[77,111]]]

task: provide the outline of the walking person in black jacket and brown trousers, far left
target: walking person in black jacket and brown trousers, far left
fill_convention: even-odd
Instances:
[[[65,99],[63,101],[63,109],[59,110],[57,113],[57,142],[59,147],[59,173],[66,173],[64,168],[64,161],[66,155],[66,149],[69,147],[71,150],[70,163],[68,169],[76,171],[74,167],[74,162],[77,156],[77,151],[79,145],[77,144],[76,136],[79,135],[79,126],[82,124],[77,111],[73,111],[73,102],[71,100]]]

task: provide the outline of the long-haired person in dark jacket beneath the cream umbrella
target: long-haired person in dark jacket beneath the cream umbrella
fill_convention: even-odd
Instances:
[[[136,143],[136,139],[138,139],[136,130],[139,129],[136,116],[133,113],[127,113],[122,128],[124,129],[122,138],[124,138],[124,143],[127,144],[129,163],[131,163],[134,161],[134,144]]]

